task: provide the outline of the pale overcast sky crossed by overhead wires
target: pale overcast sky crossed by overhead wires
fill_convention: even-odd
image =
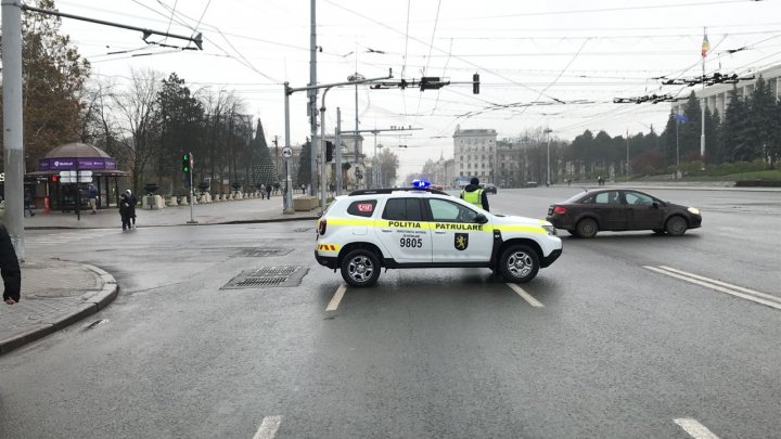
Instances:
[[[62,12],[171,34],[203,33],[203,51],[148,46],[139,33],[63,20],[93,73],[125,81],[131,69],[176,72],[193,90],[234,90],[267,137],[284,135],[282,82],[309,81],[308,0],[57,0]],[[612,135],[664,129],[669,104],[614,104],[651,93],[686,96],[691,88],[661,86],[661,76],[702,73],[703,27],[708,74],[747,75],[781,62],[779,0],[318,0],[318,81],[439,76],[469,83],[440,90],[359,88],[361,129],[412,126],[413,135],[377,138],[400,157],[400,176],[426,158],[452,156],[457,125],[492,128],[499,138],[550,127],[572,140],[585,129]],[[184,47],[182,40],[150,41]],[[192,46],[192,44],[190,44]],[[735,50],[738,50],[735,52]],[[112,52],[125,52],[114,53]],[[132,56],[149,54],[144,56]],[[292,143],[309,134],[306,95],[291,99]],[[325,127],[336,107],[355,127],[355,88],[332,89]],[[371,134],[366,144],[372,154]],[[393,149],[406,144],[407,150]]]

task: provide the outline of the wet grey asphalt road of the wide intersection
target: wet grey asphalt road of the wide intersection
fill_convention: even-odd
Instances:
[[[541,218],[577,191],[500,190],[491,210]],[[342,289],[311,221],[30,232],[29,254],[121,290],[0,357],[0,437],[779,437],[781,309],[725,292],[781,298],[779,193],[653,193],[703,228],[563,236],[521,293],[483,269]],[[300,284],[221,289],[271,267]]]

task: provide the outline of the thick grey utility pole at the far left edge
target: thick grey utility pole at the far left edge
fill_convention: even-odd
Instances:
[[[24,149],[22,125],[22,9],[2,0],[3,164],[5,225],[24,261]]]

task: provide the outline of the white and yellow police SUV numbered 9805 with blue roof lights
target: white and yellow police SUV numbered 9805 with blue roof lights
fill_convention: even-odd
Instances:
[[[485,267],[524,283],[562,253],[561,238],[545,220],[490,214],[427,188],[337,196],[317,229],[315,258],[341,269],[351,286],[373,285],[383,267]]]

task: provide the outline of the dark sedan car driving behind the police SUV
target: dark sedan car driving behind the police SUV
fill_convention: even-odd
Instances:
[[[546,219],[556,229],[580,237],[593,237],[599,231],[626,230],[680,236],[702,224],[699,209],[663,202],[632,189],[581,192],[550,206]]]

